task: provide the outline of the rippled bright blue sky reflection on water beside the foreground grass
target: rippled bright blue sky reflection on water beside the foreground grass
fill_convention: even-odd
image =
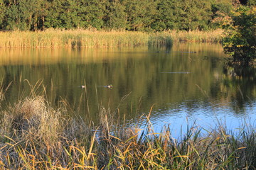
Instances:
[[[181,134],[185,135],[187,126],[198,130],[202,128],[202,132],[218,130],[222,126],[234,133],[239,132],[244,125],[255,127],[256,102],[245,103],[244,109],[235,111],[235,114],[230,105],[231,103],[204,103],[198,104],[196,108],[180,105],[176,108],[158,109],[151,113],[150,121],[155,132],[162,132],[164,127],[169,127],[171,135],[175,138],[181,137]],[[171,106],[174,106],[174,103]]]

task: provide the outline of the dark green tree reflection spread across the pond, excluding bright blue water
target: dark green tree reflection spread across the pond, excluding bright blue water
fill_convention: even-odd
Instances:
[[[65,55],[71,57],[61,57]],[[52,64],[6,64],[0,67],[0,76],[4,82],[13,81],[14,86],[6,94],[10,103],[17,100],[21,90],[28,88],[23,79],[28,79],[31,84],[43,79],[51,103],[66,99],[80,115],[87,115],[90,111],[92,120],[97,120],[98,103],[112,111],[118,106],[120,117],[126,114],[129,118],[147,113],[154,104],[156,111],[170,107],[175,110],[176,106],[178,109],[181,106],[193,113],[200,107],[210,108],[211,104],[218,107],[228,103],[234,113],[240,113],[245,103],[256,96],[255,71],[232,67],[225,67],[223,71],[223,60],[219,60],[222,57],[220,45],[201,44],[179,44],[171,49],[102,50],[92,55],[85,50],[74,50],[57,55],[58,62]],[[35,58],[39,61],[41,57]],[[85,81],[86,93],[78,88]],[[97,88],[97,85],[107,84],[113,84],[114,88]],[[122,101],[127,94],[129,96]]]

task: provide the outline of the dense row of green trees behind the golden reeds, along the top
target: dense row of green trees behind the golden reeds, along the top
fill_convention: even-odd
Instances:
[[[228,16],[238,4],[238,0],[0,0],[0,30],[208,30],[218,28],[213,21]]]

